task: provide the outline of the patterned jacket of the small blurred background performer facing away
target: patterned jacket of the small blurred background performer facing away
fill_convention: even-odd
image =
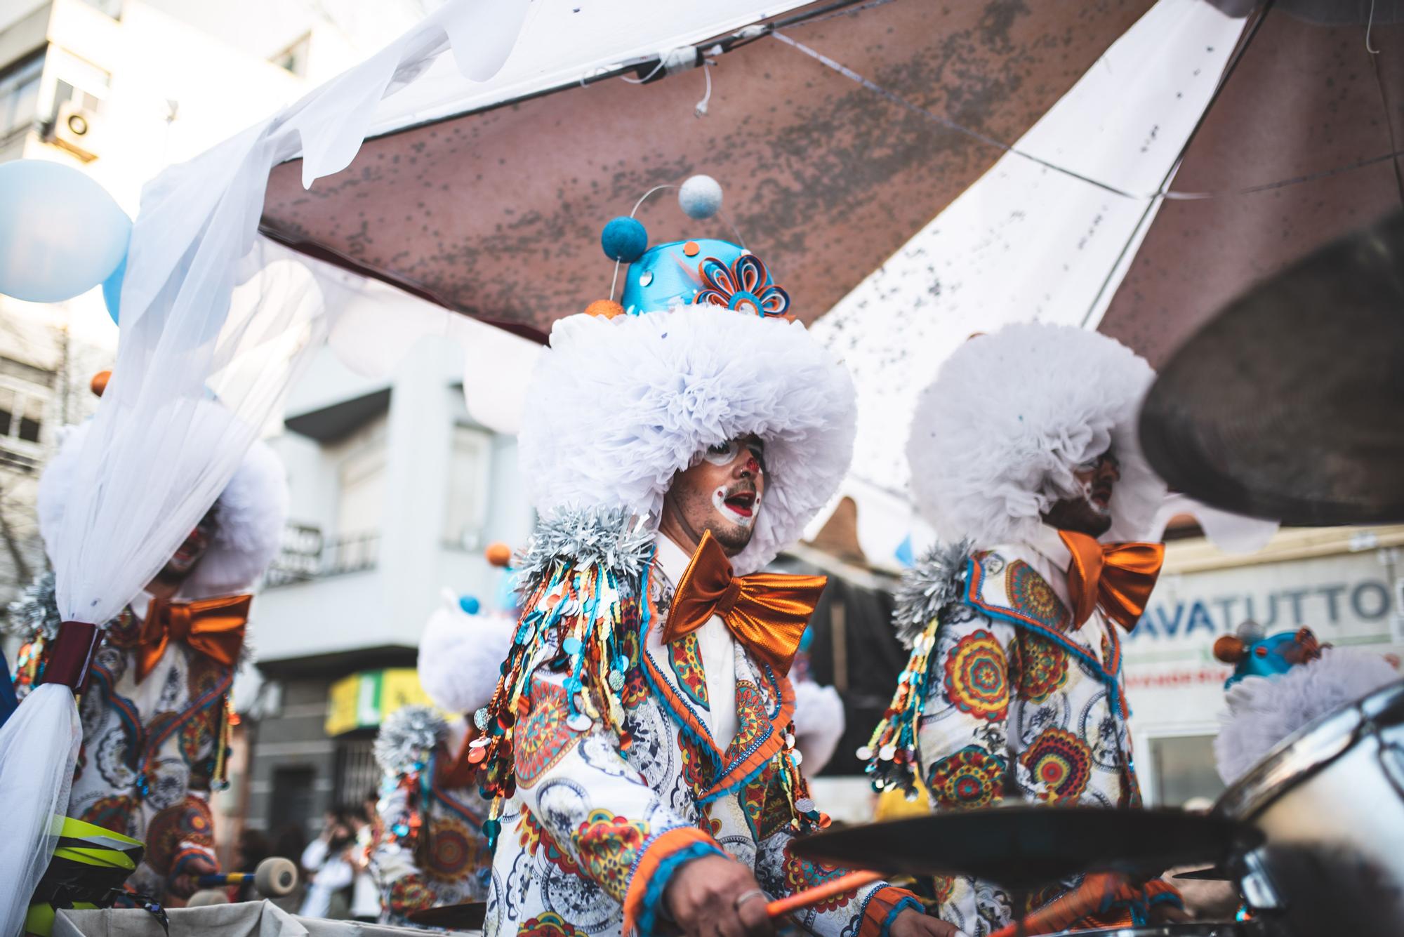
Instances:
[[[371,849],[371,875],[380,889],[385,924],[410,924],[407,916],[425,908],[484,901],[490,878],[491,856],[483,836],[489,804],[476,783],[448,787],[439,771],[461,739],[428,707],[413,708],[432,727],[431,739],[423,739],[430,745],[388,739],[388,729],[376,743],[382,762],[392,762],[380,786]],[[397,717],[403,722],[411,714]],[[393,757],[386,757],[388,749],[395,749]]]

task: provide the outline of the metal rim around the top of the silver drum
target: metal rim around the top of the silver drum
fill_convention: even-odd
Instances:
[[[1396,680],[1348,706],[1307,722],[1278,742],[1247,774],[1219,795],[1214,812],[1250,819],[1316,771],[1341,757],[1375,718],[1404,707],[1404,680]],[[1396,715],[1398,721],[1398,715]]]

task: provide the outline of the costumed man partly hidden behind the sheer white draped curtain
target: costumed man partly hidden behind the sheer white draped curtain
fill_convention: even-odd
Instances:
[[[206,421],[219,421],[219,404],[206,405]],[[39,532],[51,553],[90,425],[66,432],[39,480]],[[278,551],[286,515],[282,463],[256,442],[166,567],[107,626],[79,699],[83,749],[69,815],[145,840],[128,885],[168,903],[219,871],[209,793],[226,784],[229,692],[249,592]],[[52,574],[31,586],[21,617],[34,628],[18,662],[28,689],[58,633]]]

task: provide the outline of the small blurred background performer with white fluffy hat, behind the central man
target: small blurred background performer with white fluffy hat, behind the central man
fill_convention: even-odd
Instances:
[[[517,623],[466,614],[453,596],[420,638],[420,686],[438,707],[407,706],[386,718],[375,742],[385,773],[371,874],[380,922],[409,924],[428,908],[487,899],[491,850],[483,835],[490,804],[469,760],[472,715],[497,687]],[[452,714],[445,718],[442,713]]]

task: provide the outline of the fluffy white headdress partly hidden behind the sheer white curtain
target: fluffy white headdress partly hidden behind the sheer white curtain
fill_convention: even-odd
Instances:
[[[209,404],[212,414],[218,404]],[[39,478],[39,533],[49,553],[62,527],[90,422],[67,426],[59,450]],[[181,584],[178,598],[204,599],[249,591],[278,554],[288,520],[288,480],[282,461],[254,442],[215,502],[215,536],[209,550]]]

